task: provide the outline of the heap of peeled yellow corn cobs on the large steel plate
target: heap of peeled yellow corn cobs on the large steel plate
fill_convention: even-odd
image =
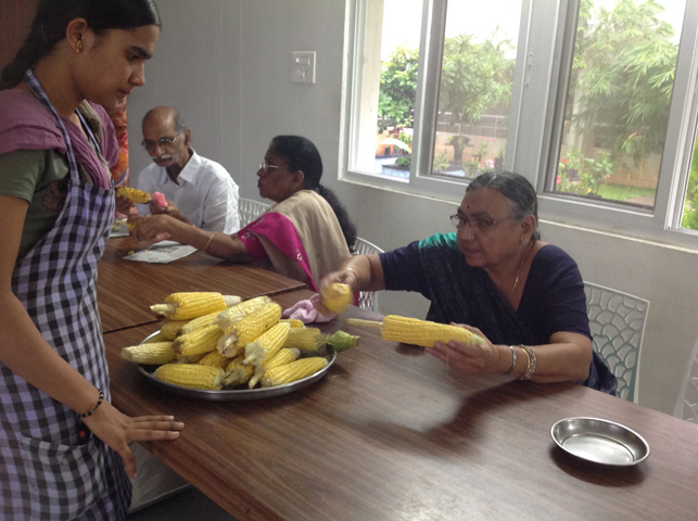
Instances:
[[[153,377],[164,382],[206,391],[291,383],[327,366],[328,345],[344,351],[358,341],[282,319],[281,306],[268,296],[241,302],[219,293],[173,293],[151,309],[166,318],[160,332],[124,347],[122,356],[158,366]]]

